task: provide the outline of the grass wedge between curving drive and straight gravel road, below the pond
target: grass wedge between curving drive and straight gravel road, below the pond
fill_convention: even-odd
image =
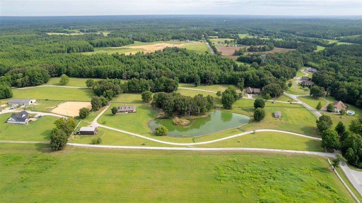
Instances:
[[[256,132],[198,147],[252,147],[324,152],[321,141],[286,133]]]

